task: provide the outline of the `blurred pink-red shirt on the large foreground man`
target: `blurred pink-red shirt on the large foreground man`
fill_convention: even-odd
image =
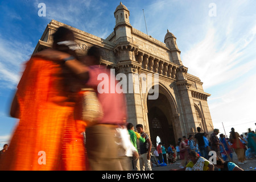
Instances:
[[[123,125],[126,123],[126,99],[123,92],[117,93],[115,75],[106,67],[93,65],[89,67],[89,80],[86,86],[97,90],[98,100],[104,111],[104,118],[100,124]]]

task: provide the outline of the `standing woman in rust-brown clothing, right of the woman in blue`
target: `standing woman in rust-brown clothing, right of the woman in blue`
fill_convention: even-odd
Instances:
[[[232,143],[232,148],[234,148],[234,152],[236,152],[237,154],[238,164],[243,164],[245,162],[245,150],[240,139],[245,140],[240,136],[240,134],[235,132],[234,128],[232,127],[229,140]]]

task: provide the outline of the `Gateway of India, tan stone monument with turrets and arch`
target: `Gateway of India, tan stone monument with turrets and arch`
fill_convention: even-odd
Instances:
[[[150,91],[145,93],[141,89],[144,77],[129,84],[127,82],[127,86],[133,86],[139,92],[125,94],[127,122],[134,126],[142,124],[153,146],[156,146],[157,137],[166,146],[175,146],[178,138],[195,134],[198,126],[212,133],[213,123],[207,103],[210,94],[204,92],[203,82],[190,75],[188,68],[183,65],[174,34],[167,30],[164,43],[160,42],[133,28],[129,16],[130,11],[120,2],[114,11],[114,31],[106,39],[51,20],[34,53],[51,47],[52,34],[60,26],[66,26],[75,33],[80,48],[78,53],[86,53],[93,45],[100,47],[101,65],[114,69],[115,73],[124,73],[127,78],[130,75],[133,79],[142,73],[158,75],[157,85],[155,82],[149,85],[151,90],[158,88],[155,89],[158,92],[156,99],[148,99]]]

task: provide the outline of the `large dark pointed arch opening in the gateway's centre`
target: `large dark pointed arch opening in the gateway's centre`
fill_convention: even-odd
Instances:
[[[163,84],[153,86],[159,87],[158,98],[148,100],[146,97],[147,121],[152,144],[156,146],[156,137],[159,137],[166,147],[170,144],[175,146],[181,131],[176,101]]]

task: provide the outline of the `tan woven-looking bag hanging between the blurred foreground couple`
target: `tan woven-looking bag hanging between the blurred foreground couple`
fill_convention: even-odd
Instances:
[[[94,89],[81,89],[77,98],[74,116],[75,119],[84,121],[86,126],[96,125],[103,118],[104,113]]]

